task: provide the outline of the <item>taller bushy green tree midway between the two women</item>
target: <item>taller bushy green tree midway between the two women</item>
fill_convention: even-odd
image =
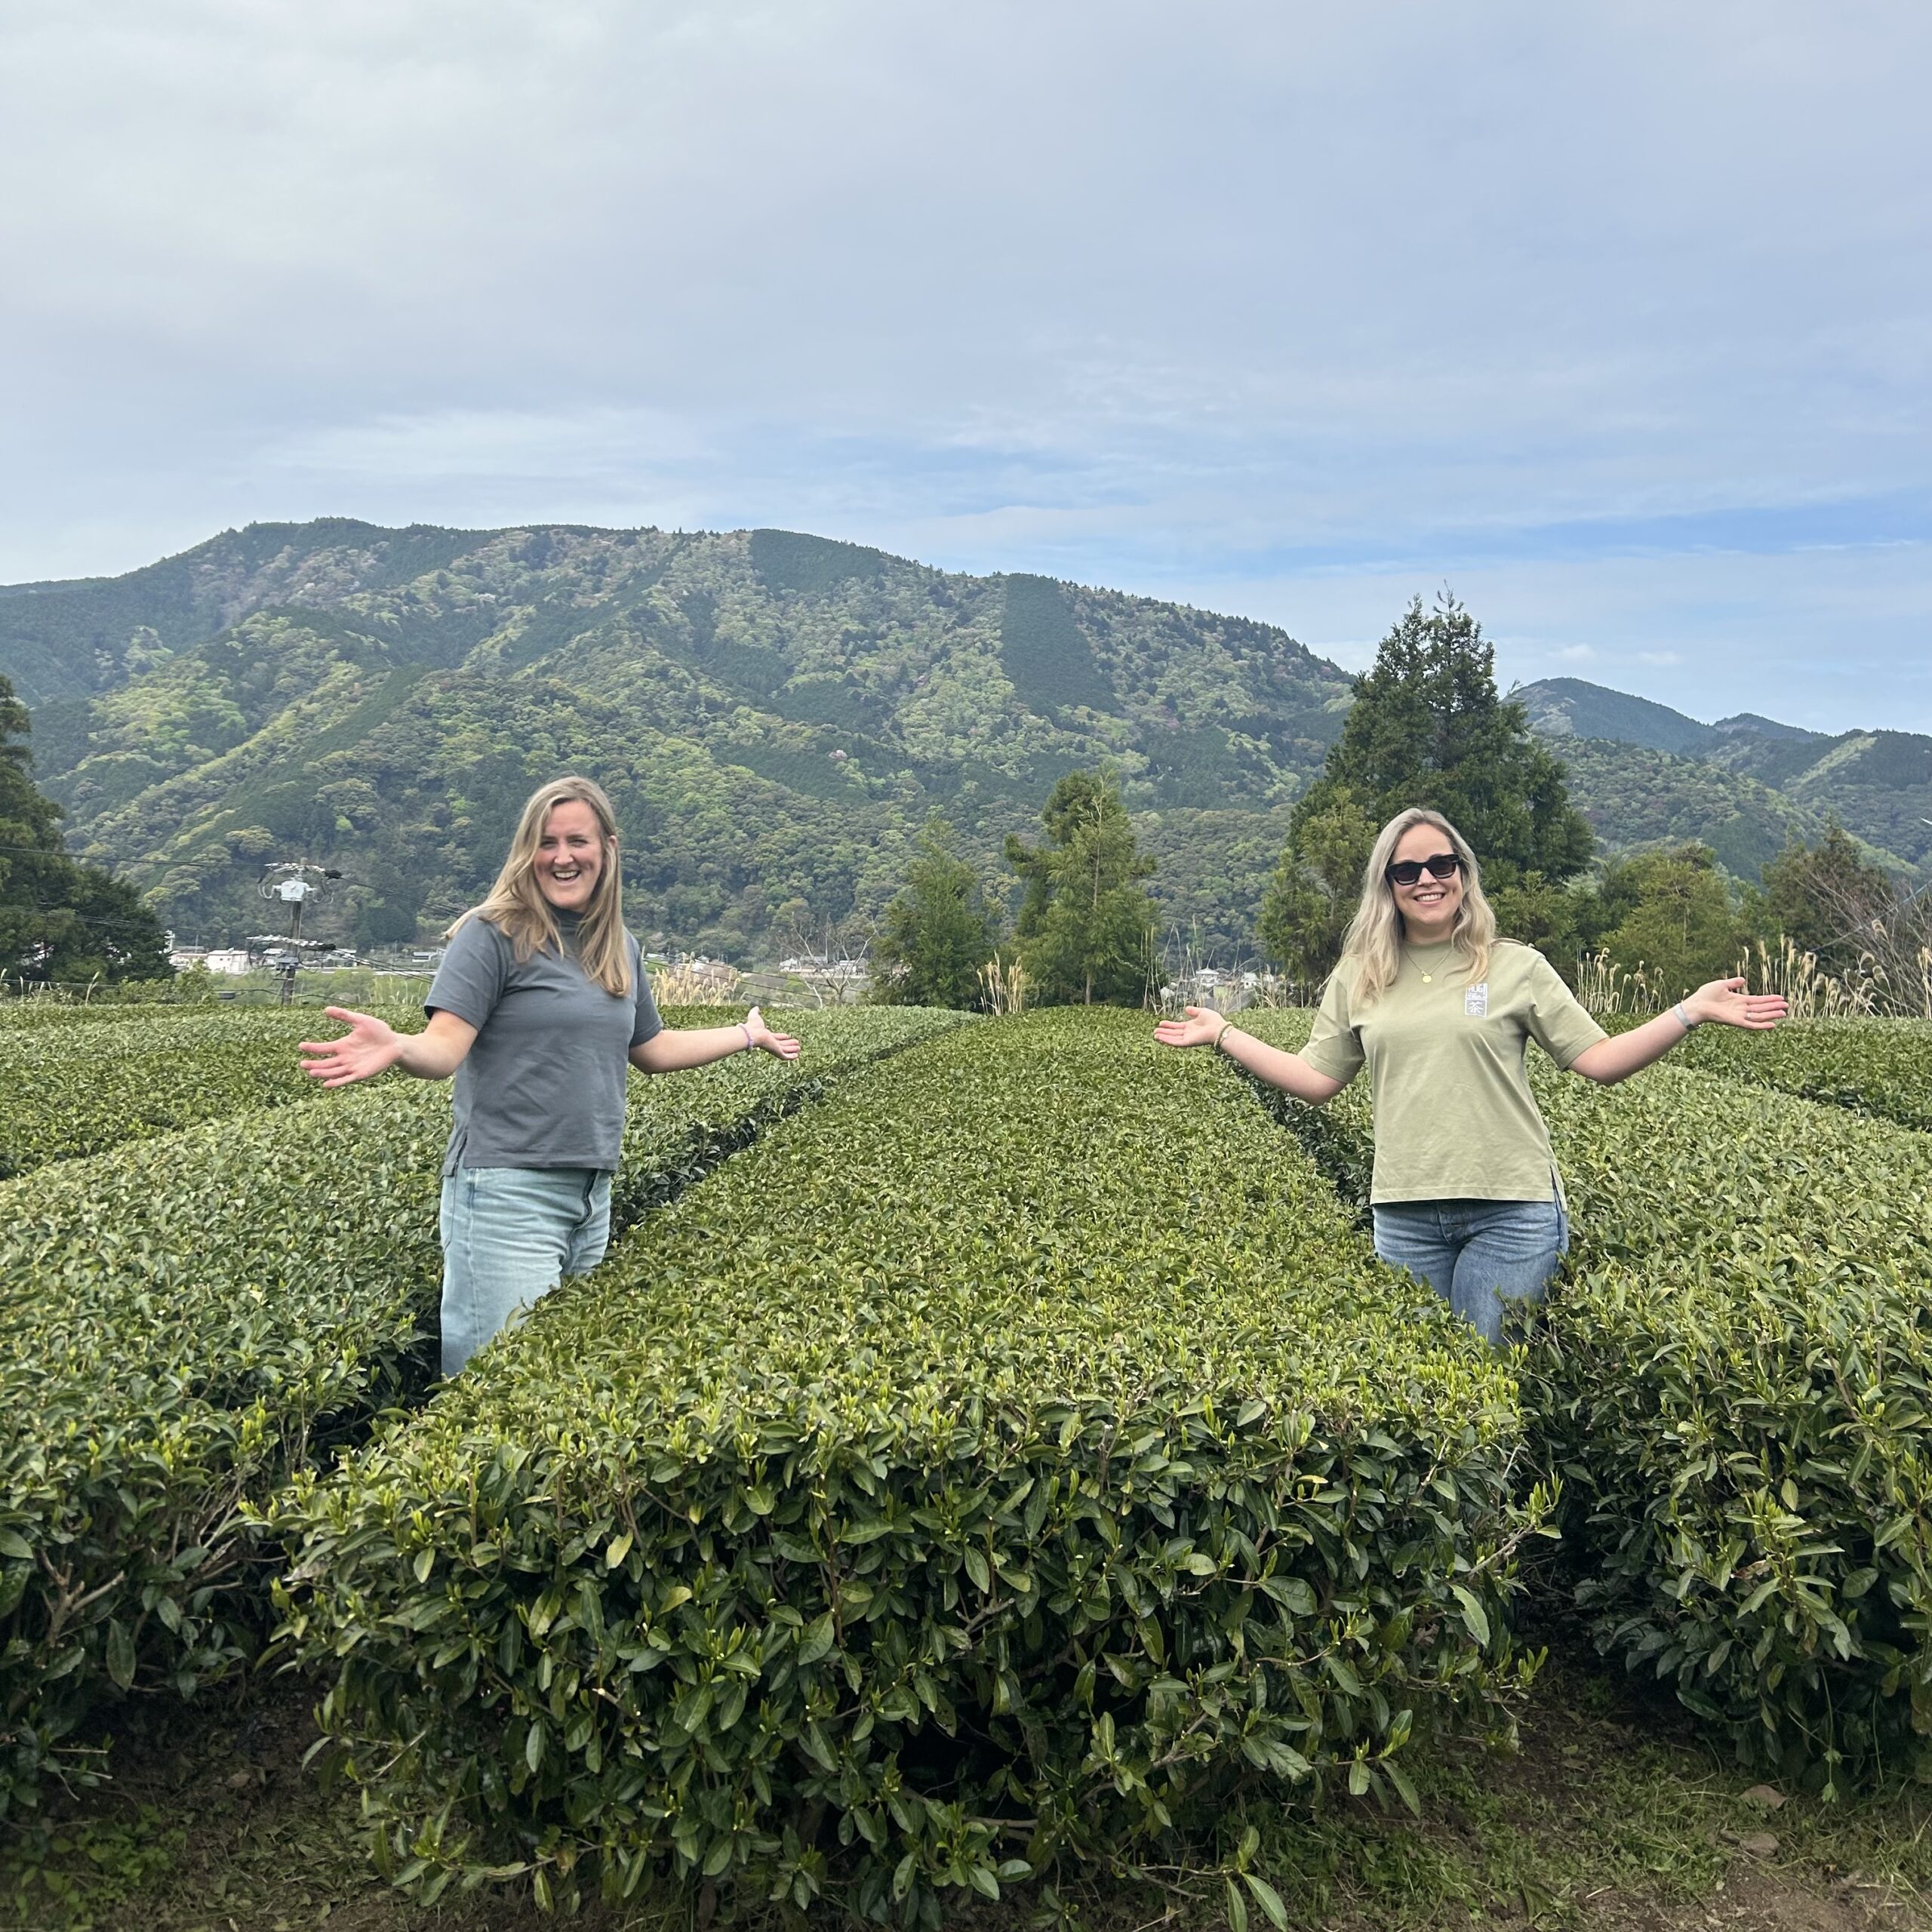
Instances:
[[[1026,881],[1014,933],[1045,1005],[1138,1007],[1153,956],[1153,873],[1121,792],[1105,773],[1070,771],[1039,813],[1047,838],[1007,835],[1007,864]]]

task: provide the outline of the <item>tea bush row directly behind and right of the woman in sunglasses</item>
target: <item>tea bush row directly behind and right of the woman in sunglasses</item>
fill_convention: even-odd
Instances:
[[[1254,1030],[1294,1045],[1306,1020]],[[1600,1642],[1789,1772],[1917,1748],[1932,1142],[1731,1078],[1604,1090],[1532,1059],[1575,1252],[1524,1329],[1524,1416]],[[1281,1111],[1366,1190],[1352,1090]]]

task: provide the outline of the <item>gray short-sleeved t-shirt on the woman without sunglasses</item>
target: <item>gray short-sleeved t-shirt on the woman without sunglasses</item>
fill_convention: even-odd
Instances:
[[[500,925],[466,920],[442,954],[425,1012],[475,1030],[456,1068],[456,1126],[442,1171],[597,1167],[616,1173],[630,1049],[663,1032],[651,976],[630,945],[632,995],[607,993],[576,958],[578,922],[560,912],[564,952],[518,962]]]

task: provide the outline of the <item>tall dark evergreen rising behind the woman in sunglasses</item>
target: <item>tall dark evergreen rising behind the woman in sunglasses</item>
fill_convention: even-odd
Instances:
[[[1590,864],[1596,838],[1522,705],[1497,696],[1495,647],[1447,593],[1434,611],[1414,599],[1354,680],[1343,734],[1294,806],[1262,900],[1269,958],[1310,981],[1333,970],[1376,833],[1410,806],[1441,811],[1468,838],[1503,931],[1553,956],[1569,945],[1559,889]]]

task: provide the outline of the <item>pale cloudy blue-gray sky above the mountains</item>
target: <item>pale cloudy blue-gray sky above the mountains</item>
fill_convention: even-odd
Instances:
[[[1922,0],[0,0],[0,580],[777,524],[1932,730]]]

